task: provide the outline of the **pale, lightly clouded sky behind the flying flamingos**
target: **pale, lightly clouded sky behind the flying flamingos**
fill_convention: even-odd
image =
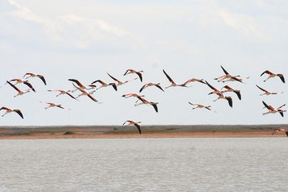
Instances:
[[[279,107],[287,102],[287,83],[279,78],[263,82],[265,70],[282,73],[288,81],[287,1],[91,1],[91,0],[4,0],[0,1],[0,86],[6,80],[37,73],[46,78],[29,78],[36,92],[17,94],[9,85],[0,88],[0,107],[22,111],[24,119],[11,113],[0,117],[0,125],[122,125],[130,119],[142,124],[286,124],[288,114],[262,115],[262,100]],[[220,65],[247,83],[216,82],[224,75]],[[87,85],[95,80],[114,82],[137,78],[124,76],[127,69],[143,70],[143,82],[121,85],[115,92],[102,87],[95,97],[99,105],[82,96],[80,102],[68,95],[47,90],[72,90],[68,79]],[[148,82],[170,85],[163,69],[177,83],[191,78],[207,80],[220,89],[229,85],[235,93],[233,108],[207,85],[157,87],[142,91],[146,100],[159,102],[134,107]],[[260,96],[255,85],[282,95]],[[100,84],[96,84],[97,87]],[[26,90],[26,85],[17,85]],[[74,92],[77,96],[80,92]],[[42,102],[55,102],[70,111]],[[192,110],[188,102],[210,105]],[[285,108],[284,108],[285,109]],[[0,114],[4,114],[1,110]]]

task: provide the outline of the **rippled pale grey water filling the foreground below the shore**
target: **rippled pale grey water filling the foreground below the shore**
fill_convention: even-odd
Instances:
[[[0,191],[288,191],[288,138],[0,140]]]

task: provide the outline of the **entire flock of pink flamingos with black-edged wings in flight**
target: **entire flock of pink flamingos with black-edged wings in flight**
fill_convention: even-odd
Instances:
[[[225,75],[223,76],[220,76],[219,78],[215,78],[214,80],[217,80],[217,82],[228,82],[228,81],[231,81],[231,82],[241,82],[241,83],[245,83],[243,82],[243,80],[247,80],[249,77],[247,78],[241,78],[240,75],[230,75],[230,73],[227,72],[227,70],[225,70],[223,68],[223,66],[221,65],[221,68],[223,69],[223,72],[225,73]],[[240,90],[235,90],[233,89],[232,87],[229,87],[228,85],[225,85],[221,90],[218,90],[216,89],[215,87],[213,87],[212,85],[210,85],[210,83],[208,83],[206,80],[204,81],[203,79],[199,80],[199,79],[196,79],[196,78],[192,78],[190,80],[187,80],[186,82],[184,82],[183,84],[177,84],[176,82],[174,82],[174,80],[172,80],[172,78],[165,72],[165,70],[163,70],[164,72],[164,75],[166,75],[166,78],[168,78],[168,80],[171,82],[171,85],[168,86],[168,87],[165,87],[165,88],[169,88],[169,87],[177,87],[177,86],[180,86],[180,87],[189,87],[188,84],[190,82],[201,82],[205,85],[208,85],[208,87],[210,87],[210,89],[212,89],[213,91],[208,93],[208,95],[212,95],[212,94],[215,94],[215,95],[218,95],[218,98],[216,100],[213,100],[213,102],[217,101],[217,100],[220,100],[220,99],[223,99],[223,100],[227,100],[228,101],[228,105],[230,107],[233,107],[233,99],[232,97],[227,97],[224,95],[224,93],[226,92],[235,92],[235,94],[237,95],[238,99],[241,100],[241,93],[240,93]],[[140,71],[136,71],[136,70],[127,70],[126,73],[124,73],[124,75],[128,75],[128,74],[137,74],[139,76],[139,79],[143,80],[142,78],[142,73],[143,70],[140,70]],[[270,78],[275,78],[275,77],[279,77],[280,80],[282,80],[283,83],[285,83],[285,80],[284,80],[284,76],[282,74],[274,74],[274,73],[271,73],[269,70],[265,70],[265,72],[263,72],[260,76],[264,75],[264,74],[268,74],[268,78],[266,80],[264,80],[264,82],[266,82],[267,80],[269,80]],[[95,99],[95,97],[92,96],[92,94],[94,92],[96,92],[96,90],[99,90],[100,88],[102,87],[110,87],[112,86],[114,88],[115,91],[117,91],[117,87],[120,86],[120,85],[124,85],[126,84],[127,82],[130,82],[130,81],[133,81],[133,80],[137,80],[138,78],[134,78],[132,80],[126,80],[126,81],[119,81],[117,80],[116,78],[112,77],[112,75],[110,75],[109,73],[107,73],[107,75],[110,76],[110,78],[112,78],[112,80],[114,80],[115,82],[112,82],[112,83],[105,83],[103,82],[102,80],[95,80],[93,81],[90,85],[82,85],[82,83],[79,81],[79,80],[75,80],[75,79],[68,79],[69,81],[72,82],[73,84],[73,87],[75,87],[74,90],[48,90],[49,92],[59,92],[58,95],[56,95],[56,97],[58,97],[59,95],[68,95],[70,96],[71,98],[73,98],[74,100],[78,100],[79,97],[81,96],[87,96],[87,97],[90,97],[90,99],[98,104],[101,104],[102,102],[99,102]],[[28,77],[26,77],[28,76]],[[43,75],[38,75],[38,74],[35,74],[35,73],[26,73],[23,78],[21,79],[12,79],[12,80],[9,80],[9,81],[6,81],[6,84],[10,85],[11,87],[13,87],[17,92],[18,94],[15,95],[14,97],[17,97],[19,95],[24,95],[28,92],[30,92],[31,90],[33,92],[36,92],[35,88],[33,87],[33,85],[31,85],[30,82],[28,82],[28,80],[24,80],[24,78],[26,77],[26,79],[28,78],[40,78],[43,83],[46,85],[46,80],[45,78],[43,77]],[[15,84],[12,84],[12,82],[16,82]],[[95,85],[97,82],[99,82],[101,84],[100,87],[97,88],[97,86]],[[19,90],[18,87],[16,87],[17,84],[25,84],[27,85],[29,88],[27,90]],[[75,85],[75,84],[76,85]],[[146,89],[147,87],[151,87],[151,86],[155,86],[155,87],[158,87],[161,91],[164,92],[163,88],[160,86],[160,83],[154,83],[154,82],[149,82],[149,83],[146,83],[145,85],[143,85],[141,87],[141,89],[139,90],[139,92],[142,92],[144,89]],[[261,87],[259,87],[258,85],[256,85],[260,90],[262,90],[264,93],[262,95],[277,95],[277,94],[282,94],[283,92],[269,92],[265,89],[262,89]],[[0,87],[1,88],[1,87]],[[223,90],[225,89],[225,90]],[[88,91],[88,90],[91,90],[91,91]],[[71,93],[73,92],[81,92],[80,95],[78,95],[77,97],[73,96]],[[70,93],[71,92],[71,93]],[[122,95],[122,97],[124,98],[128,98],[128,97],[137,97],[137,103],[134,105],[135,107],[136,106],[139,106],[139,105],[151,105],[152,107],[154,107],[154,110],[156,112],[158,112],[158,107],[157,105],[159,104],[158,102],[151,102],[149,100],[145,100],[143,97],[144,95],[138,95],[137,93],[129,93],[127,95]],[[78,100],[79,101],[79,100]],[[45,103],[45,104],[48,104],[48,107],[46,107],[45,109],[47,110],[48,108],[50,107],[59,107],[63,110],[70,110],[68,108],[65,108],[65,107],[62,107],[61,105],[59,104],[56,104],[56,103],[53,103],[53,102],[42,102],[42,103]],[[205,105],[200,105],[200,104],[193,104],[191,102],[188,102],[190,105],[193,105],[193,106],[196,106],[194,108],[192,108],[192,110],[195,110],[197,108],[205,108],[207,110],[210,110],[211,112],[215,112],[214,110],[211,110],[210,107],[211,106],[205,106]],[[279,113],[281,114],[282,117],[284,117],[284,112],[286,112],[286,110],[282,110],[282,108],[286,105],[282,105],[281,107],[278,107],[277,109],[274,109],[274,107],[272,107],[271,105],[267,105],[264,101],[262,101],[263,105],[269,110],[268,112],[265,112],[263,113],[263,115],[265,114],[275,114],[275,113]],[[263,109],[265,108],[263,107]],[[21,110],[14,110],[14,109],[9,109],[8,107],[1,107],[0,110],[6,110],[6,112],[2,115],[2,117],[4,117],[6,114],[10,113],[10,112],[16,112],[17,114],[19,114],[19,116],[23,119],[23,114],[21,112]],[[137,127],[138,131],[139,131],[139,134],[141,134],[141,126],[139,125],[139,123],[141,122],[134,122],[134,121],[131,121],[131,120],[127,120],[126,122],[124,122],[124,124],[122,124],[122,126],[128,126],[130,124],[133,124],[134,126]],[[286,129],[274,129],[274,133],[278,132],[278,131],[282,131],[282,132],[286,132],[287,134],[287,137],[288,137],[288,130]]]

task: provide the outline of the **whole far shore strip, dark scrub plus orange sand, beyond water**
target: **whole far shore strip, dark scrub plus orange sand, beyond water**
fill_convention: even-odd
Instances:
[[[0,127],[0,139],[112,139],[112,138],[189,138],[189,137],[287,137],[272,135],[273,125],[144,125],[142,134],[134,126],[46,126]]]

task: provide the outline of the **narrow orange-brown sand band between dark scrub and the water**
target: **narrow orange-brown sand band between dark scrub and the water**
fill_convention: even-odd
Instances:
[[[27,135],[0,135],[0,139],[110,139],[110,138],[205,138],[205,137],[287,137],[284,133],[272,135],[271,131],[257,132],[115,132],[115,133],[87,133],[75,132],[65,134],[59,132],[55,134],[27,134]]]

